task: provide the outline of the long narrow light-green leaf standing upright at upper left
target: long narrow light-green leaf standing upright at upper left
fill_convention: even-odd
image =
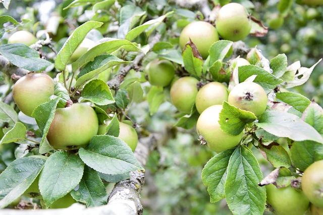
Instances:
[[[76,50],[76,48],[82,43],[83,39],[85,38],[86,34],[95,28],[100,27],[103,25],[101,22],[95,22],[95,21],[88,21],[78,28],[76,28],[71,36],[66,40],[63,47],[57,53],[56,59],[55,59],[55,67],[59,70],[65,70],[65,67],[70,60],[72,54]]]

